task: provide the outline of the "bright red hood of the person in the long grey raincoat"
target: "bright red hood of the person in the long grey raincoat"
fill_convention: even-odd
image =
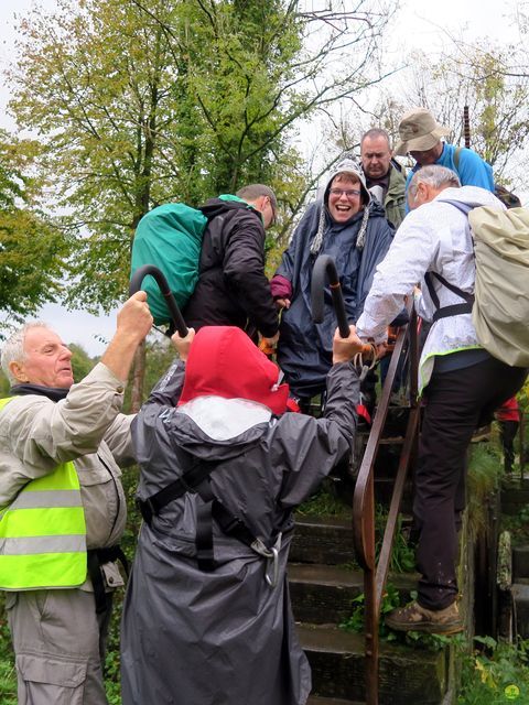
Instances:
[[[278,387],[278,367],[240,328],[205,326],[191,344],[179,405],[197,397],[248,399],[280,415],[289,386]]]

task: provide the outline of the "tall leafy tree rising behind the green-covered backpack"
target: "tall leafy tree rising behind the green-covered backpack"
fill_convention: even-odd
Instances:
[[[68,212],[66,303],[123,296],[134,228],[163,202],[270,183],[284,236],[313,185],[295,126],[380,80],[393,1],[58,0],[24,20],[10,108]]]

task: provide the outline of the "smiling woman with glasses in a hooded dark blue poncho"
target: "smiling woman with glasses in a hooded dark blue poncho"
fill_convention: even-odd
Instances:
[[[312,321],[316,258],[330,254],[334,259],[347,316],[354,324],[393,234],[384,208],[371,200],[361,170],[344,159],[331,173],[323,198],[309,206],[271,281],[272,295],[282,310],[278,362],[302,409],[325,389],[336,328],[330,293],[323,323]]]

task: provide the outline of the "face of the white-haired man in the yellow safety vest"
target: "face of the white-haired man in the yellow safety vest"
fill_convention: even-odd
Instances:
[[[19,382],[69,389],[74,383],[72,352],[48,328],[30,328],[24,338],[25,359],[14,364]]]

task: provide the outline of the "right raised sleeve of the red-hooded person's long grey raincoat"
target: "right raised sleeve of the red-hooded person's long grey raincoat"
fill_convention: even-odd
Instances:
[[[327,375],[323,419],[287,413],[278,423],[273,463],[284,468],[279,503],[293,509],[310,497],[324,477],[353,451],[356,433],[358,375],[349,362],[334,365]]]

